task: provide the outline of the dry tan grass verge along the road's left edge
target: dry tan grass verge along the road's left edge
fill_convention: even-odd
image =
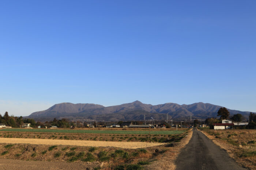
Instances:
[[[188,131],[188,136],[181,139],[181,142],[179,142],[178,146],[175,147],[168,147],[166,152],[162,155],[159,155],[156,157],[158,161],[154,161],[150,165],[145,166],[145,169],[148,170],[162,170],[162,169],[168,169],[168,170],[174,170],[176,169],[175,160],[180,153],[180,150],[185,147],[188,142],[190,141],[192,137],[193,131],[192,129]],[[163,147],[161,147],[163,150]],[[165,148],[166,149],[166,148]]]

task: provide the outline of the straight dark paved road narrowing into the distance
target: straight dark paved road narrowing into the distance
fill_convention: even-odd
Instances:
[[[202,132],[193,129],[188,145],[176,160],[177,170],[245,170]]]

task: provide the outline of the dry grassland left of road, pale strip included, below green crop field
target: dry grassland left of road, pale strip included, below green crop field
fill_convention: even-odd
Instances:
[[[83,166],[90,163],[91,168],[106,170],[159,169],[159,165],[174,169],[174,160],[185,141],[188,141],[191,132],[184,129],[180,134],[151,134],[146,144],[144,139],[147,139],[148,135],[144,134],[1,131],[0,159],[65,161],[80,163]],[[188,134],[189,137],[185,137]],[[114,140],[110,141],[113,137]],[[77,140],[79,138],[82,140]],[[84,140],[88,138],[92,140]]]

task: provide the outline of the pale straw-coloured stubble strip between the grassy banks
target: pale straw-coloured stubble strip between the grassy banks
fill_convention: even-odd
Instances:
[[[76,141],[60,139],[28,139],[28,138],[0,138],[0,143],[29,143],[35,145],[74,145],[74,146],[113,146],[127,149],[137,149],[142,147],[159,146],[163,143],[153,142],[112,142],[112,141]]]

